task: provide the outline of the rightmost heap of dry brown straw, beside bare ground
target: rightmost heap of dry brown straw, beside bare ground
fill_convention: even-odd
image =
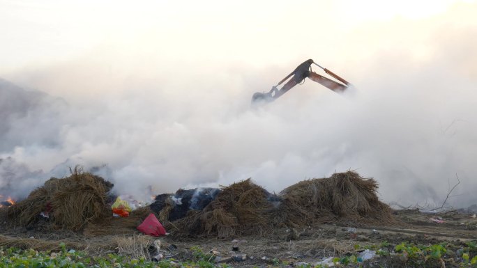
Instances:
[[[313,223],[391,223],[391,208],[377,197],[378,184],[354,171],[298,182],[284,189],[278,219],[288,226]]]

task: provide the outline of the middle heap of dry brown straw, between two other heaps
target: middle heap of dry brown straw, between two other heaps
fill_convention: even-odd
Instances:
[[[263,235],[269,228],[267,215],[273,210],[268,196],[265,189],[250,179],[237,182],[222,189],[204,210],[191,210],[173,223],[166,221],[165,226],[176,235],[216,235],[220,238]]]

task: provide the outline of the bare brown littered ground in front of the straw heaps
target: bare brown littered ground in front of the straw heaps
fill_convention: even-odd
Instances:
[[[234,237],[239,240],[239,251],[232,251],[232,239],[159,237],[161,253],[166,258],[187,261],[197,249],[204,253],[215,252],[220,256],[217,267],[315,267],[328,257],[342,258],[356,255],[364,249],[377,249],[387,245],[393,251],[395,245],[408,242],[416,245],[446,243],[449,249],[459,249],[477,239],[477,219],[471,214],[450,211],[427,214],[418,210],[393,211],[398,224],[393,226],[338,226],[321,224],[300,230],[280,229],[264,237]],[[432,220],[434,219],[434,220]],[[437,221],[437,222],[436,222]],[[442,222],[443,221],[443,222]],[[139,232],[104,237],[84,237],[70,231],[47,232],[26,228],[1,226],[0,245],[20,248],[52,249],[61,242],[68,248],[89,252],[91,255],[117,253],[117,237],[135,237]],[[156,239],[156,238],[153,238]],[[100,245],[98,247],[98,245]],[[230,259],[236,255],[234,259]],[[245,260],[237,260],[246,255]],[[215,257],[215,256],[214,256]],[[446,256],[448,258],[450,256]],[[444,256],[443,256],[444,259]],[[448,261],[448,260],[446,260]],[[363,267],[412,267],[397,258],[377,256],[361,262]],[[451,263],[447,267],[454,267]],[[457,265],[455,266],[457,267]]]

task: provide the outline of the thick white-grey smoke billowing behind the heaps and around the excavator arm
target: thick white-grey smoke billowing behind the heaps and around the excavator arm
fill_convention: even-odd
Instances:
[[[88,56],[94,61],[9,74],[17,84],[68,104],[52,99],[28,116],[8,119],[0,158],[11,158],[0,162],[0,174],[16,175],[2,175],[0,189],[22,197],[77,164],[114,182],[119,194],[144,200],[149,186],[162,194],[252,177],[280,191],[354,169],[378,180],[386,202],[440,205],[457,174],[461,184],[448,202],[476,203],[477,58],[471,51],[477,40],[471,36],[477,35],[473,27],[454,30],[430,29],[424,44],[430,54],[385,40],[381,47],[354,43],[365,34],[357,30],[343,40],[346,45],[340,42],[351,51],[335,61],[323,56],[326,67],[356,88],[338,95],[306,80],[264,107],[250,106],[252,93],[268,91],[296,65],[324,52],[310,49],[279,66],[211,65],[199,57],[159,63],[139,58],[126,68],[119,53],[100,49]]]

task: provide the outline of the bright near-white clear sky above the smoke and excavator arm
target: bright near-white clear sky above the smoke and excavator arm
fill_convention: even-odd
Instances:
[[[406,34],[414,39],[418,30],[394,26],[382,31],[379,25],[402,20],[425,27],[439,15],[441,24],[475,24],[474,3],[1,0],[0,72],[97,57],[98,51],[121,57],[123,64],[135,58],[254,66],[311,56],[325,58],[329,64],[344,56],[359,60],[350,52],[374,52],[373,43],[393,42]],[[416,53],[425,54],[418,49]]]

